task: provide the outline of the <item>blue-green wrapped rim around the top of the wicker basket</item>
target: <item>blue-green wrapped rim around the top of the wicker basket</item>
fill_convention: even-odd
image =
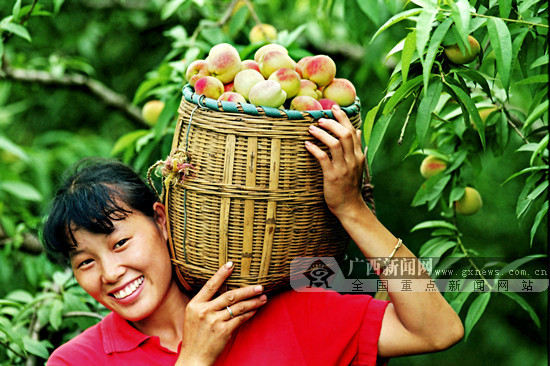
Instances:
[[[257,106],[251,103],[218,101],[216,99],[208,98],[203,94],[195,93],[193,87],[190,84],[186,84],[182,89],[183,98],[190,103],[194,103],[199,107],[214,110],[217,112],[231,112],[231,113],[244,113],[253,116],[266,115],[272,118],[285,118],[285,119],[304,119],[305,117],[312,117],[313,119],[319,118],[331,118],[334,119],[334,114],[330,109],[315,110],[315,111],[296,111],[292,109],[278,109],[272,107]],[[348,116],[353,116],[359,113],[361,110],[361,101],[358,97],[355,98],[353,104],[347,107],[340,107]]]

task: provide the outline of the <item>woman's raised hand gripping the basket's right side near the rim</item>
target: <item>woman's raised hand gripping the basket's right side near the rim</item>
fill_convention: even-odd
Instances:
[[[336,120],[320,118],[320,127],[311,125],[309,129],[311,135],[328,147],[330,156],[309,141],[306,141],[305,146],[323,169],[327,206],[341,218],[343,214],[364,205],[360,186],[365,157],[360,131],[355,130],[346,113],[339,107],[333,107],[332,112]]]

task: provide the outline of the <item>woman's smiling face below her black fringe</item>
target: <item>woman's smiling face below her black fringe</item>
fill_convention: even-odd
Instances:
[[[151,315],[174,288],[164,206],[155,203],[154,208],[155,219],[130,213],[113,221],[110,234],[74,231],[78,246],[70,258],[77,282],[129,321]]]

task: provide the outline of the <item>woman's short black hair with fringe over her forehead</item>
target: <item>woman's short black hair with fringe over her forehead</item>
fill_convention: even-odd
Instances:
[[[51,254],[68,258],[78,245],[73,232],[85,229],[109,234],[113,221],[139,211],[154,217],[152,189],[130,167],[118,161],[84,159],[66,172],[43,226],[43,241]]]

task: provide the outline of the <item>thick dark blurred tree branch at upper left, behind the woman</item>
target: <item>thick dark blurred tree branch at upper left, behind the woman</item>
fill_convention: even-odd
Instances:
[[[149,128],[145,120],[141,117],[141,111],[138,107],[132,105],[128,99],[107,87],[101,82],[80,74],[67,74],[63,76],[54,76],[47,71],[12,69],[4,65],[2,71],[4,77],[22,83],[36,83],[48,86],[61,86],[68,88],[81,89],[98,97],[105,105],[121,111],[126,117],[135,123]]]

